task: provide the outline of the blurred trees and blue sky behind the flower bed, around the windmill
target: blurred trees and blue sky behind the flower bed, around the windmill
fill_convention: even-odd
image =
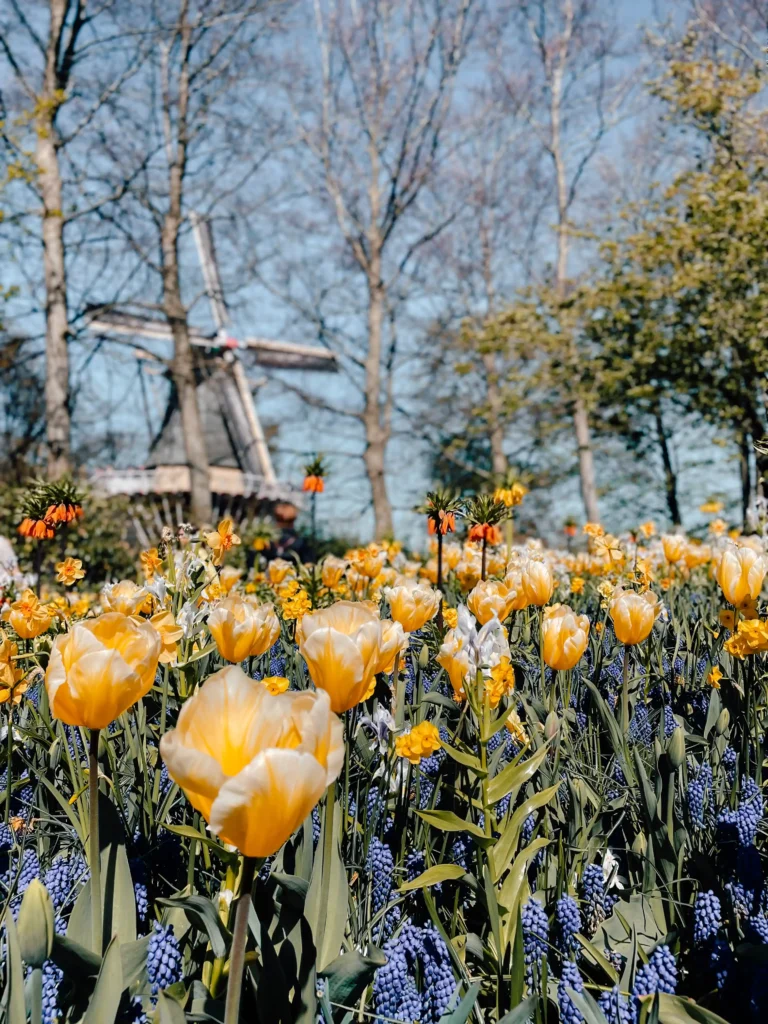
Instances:
[[[715,494],[745,517],[768,469],[764,11],[630,6],[9,0],[4,478],[141,464],[169,383],[85,331],[128,302],[171,325],[205,518],[199,212],[234,324],[337,353],[322,388],[258,382],[284,473],[323,438],[337,527],[401,532],[429,479],[512,476],[550,530],[695,522]]]

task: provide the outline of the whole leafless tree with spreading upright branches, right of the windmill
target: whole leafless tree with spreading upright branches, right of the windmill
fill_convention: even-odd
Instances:
[[[334,237],[321,257],[325,272],[317,276],[312,268],[314,279],[301,288],[297,254],[275,254],[284,269],[273,287],[290,293],[294,308],[343,357],[358,400],[324,404],[361,426],[380,538],[392,531],[385,473],[397,316],[412,295],[417,255],[457,213],[435,201],[429,185],[442,156],[472,6],[473,0],[314,0],[314,33],[300,34],[304,46],[284,66],[295,130],[284,225],[293,223],[313,243],[332,225]],[[299,8],[309,9],[308,0]],[[311,260],[307,243],[301,246],[303,260]],[[339,294],[343,304],[331,298]]]

